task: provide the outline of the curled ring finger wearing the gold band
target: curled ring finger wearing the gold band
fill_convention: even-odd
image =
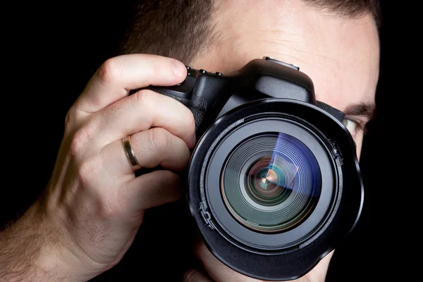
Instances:
[[[140,166],[161,166],[171,171],[182,171],[190,161],[190,150],[183,140],[164,128],[151,128],[130,137],[131,147]],[[102,149],[102,163],[110,174],[133,175],[134,171],[122,140],[117,140]]]

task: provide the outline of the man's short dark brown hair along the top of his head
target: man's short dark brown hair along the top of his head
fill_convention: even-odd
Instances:
[[[139,0],[133,8],[121,54],[168,56],[190,63],[213,39],[212,12],[216,0]],[[378,0],[302,0],[337,16],[359,18],[372,13],[380,22]]]

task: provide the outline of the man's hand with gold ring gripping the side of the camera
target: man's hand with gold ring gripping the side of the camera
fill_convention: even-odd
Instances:
[[[30,216],[16,224],[37,222],[25,232],[43,231],[43,243],[28,269],[72,281],[97,276],[123,257],[145,209],[178,200],[175,172],[186,168],[189,148],[195,145],[192,113],[175,99],[149,90],[128,92],[176,85],[185,76],[183,63],[145,54],[109,59],[94,74],[68,111],[47,190]],[[135,178],[122,144],[128,135],[142,167],[160,165],[164,170]],[[8,233],[12,238],[13,229]]]

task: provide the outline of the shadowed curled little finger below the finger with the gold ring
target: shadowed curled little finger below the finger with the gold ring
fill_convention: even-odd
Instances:
[[[133,178],[118,189],[120,202],[137,212],[180,199],[180,178],[171,171],[153,171]]]

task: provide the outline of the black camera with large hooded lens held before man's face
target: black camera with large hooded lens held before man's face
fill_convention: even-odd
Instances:
[[[229,75],[188,67],[149,89],[195,117],[188,205],[204,243],[247,276],[307,274],[354,228],[363,204],[344,115],[317,102],[296,66],[265,57]]]

